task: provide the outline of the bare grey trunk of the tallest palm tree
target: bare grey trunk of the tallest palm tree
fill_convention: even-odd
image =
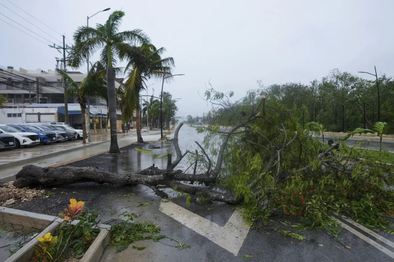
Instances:
[[[117,128],[116,128],[116,96],[115,96],[115,76],[112,68],[112,50],[108,45],[108,67],[107,67],[107,92],[108,92],[108,111],[111,128],[110,153],[119,153]]]

